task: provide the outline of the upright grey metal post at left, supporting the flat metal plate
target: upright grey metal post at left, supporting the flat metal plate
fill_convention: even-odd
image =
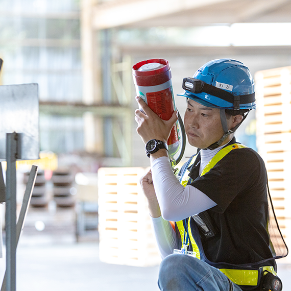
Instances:
[[[6,135],[6,290],[16,290],[16,158],[17,133]]]

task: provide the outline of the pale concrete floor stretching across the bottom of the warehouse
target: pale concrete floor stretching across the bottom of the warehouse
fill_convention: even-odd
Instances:
[[[97,241],[77,243],[71,211],[28,213],[17,247],[16,289],[19,291],[158,291],[158,266],[134,267],[103,263]],[[50,218],[51,217],[51,218]],[[52,219],[54,217],[54,219]],[[38,232],[34,221],[45,221]],[[52,226],[56,221],[59,224]],[[53,223],[54,222],[54,223]],[[60,227],[60,224],[65,227]],[[5,255],[5,249],[4,249]],[[278,261],[278,263],[280,260]],[[0,259],[0,280],[5,272]],[[278,264],[284,291],[291,290],[291,264]]]

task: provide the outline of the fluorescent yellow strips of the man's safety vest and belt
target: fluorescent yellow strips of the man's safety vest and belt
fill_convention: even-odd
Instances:
[[[223,159],[230,151],[235,150],[235,149],[242,149],[242,148],[247,148],[243,144],[239,143],[233,143],[230,144],[229,146],[221,149],[205,166],[203,169],[202,173],[200,176],[205,175],[207,172],[212,169],[217,162],[219,162],[221,159]],[[188,167],[191,166],[194,162],[195,156],[192,157],[190,163],[188,164]],[[189,171],[186,169],[185,173],[183,174],[183,177],[181,178],[181,184],[185,187],[189,181]],[[181,235],[181,240],[183,242],[184,240],[184,234],[185,234],[185,228],[183,221],[178,221],[176,222],[176,225],[178,227],[178,230]],[[190,217],[188,219],[188,225],[187,225],[187,230],[189,233],[189,239],[191,241],[192,245],[192,251],[196,253],[196,257],[198,259],[201,258],[199,247],[191,233],[191,228],[190,228]],[[189,231],[190,230],[190,231]],[[189,245],[189,243],[188,243]],[[273,266],[263,266],[259,268],[261,271],[269,271],[272,274],[276,275],[276,272],[274,270]],[[258,284],[258,275],[259,271],[258,270],[236,270],[236,269],[220,269],[222,273],[224,273],[233,283],[237,285],[244,285],[244,286],[256,286]]]

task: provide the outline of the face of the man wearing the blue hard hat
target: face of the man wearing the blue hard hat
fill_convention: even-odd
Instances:
[[[206,149],[224,135],[220,109],[201,105],[187,100],[184,116],[185,132],[191,146]]]

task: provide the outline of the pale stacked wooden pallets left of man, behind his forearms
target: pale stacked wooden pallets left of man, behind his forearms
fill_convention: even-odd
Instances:
[[[142,167],[100,168],[100,260],[107,263],[150,266],[160,262],[146,199],[139,178]]]

